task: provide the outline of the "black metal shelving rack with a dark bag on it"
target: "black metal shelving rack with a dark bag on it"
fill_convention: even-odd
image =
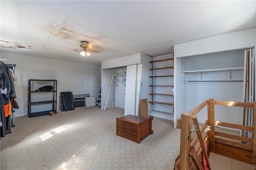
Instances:
[[[51,84],[53,84],[53,90],[52,91],[31,91],[31,82],[33,81],[50,81]],[[31,102],[31,94],[32,93],[52,93],[52,100],[50,101],[34,101]],[[41,111],[41,112],[34,112],[31,113],[31,106],[32,105],[43,105],[43,104],[49,104],[52,103],[52,110],[49,111]],[[49,112],[57,113],[57,80],[50,79],[50,80],[39,80],[39,79],[29,79],[28,80],[28,116],[36,117],[36,116],[42,116],[42,115],[49,115]]]

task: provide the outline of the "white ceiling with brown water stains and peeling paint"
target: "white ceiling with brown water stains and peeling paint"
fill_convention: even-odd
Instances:
[[[136,53],[256,26],[256,1],[1,1],[1,52],[81,63]],[[184,49],[186,50],[186,49]]]

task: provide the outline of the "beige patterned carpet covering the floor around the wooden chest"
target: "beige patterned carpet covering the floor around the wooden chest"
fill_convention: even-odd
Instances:
[[[12,133],[1,138],[1,170],[161,170],[174,168],[180,129],[154,117],[154,134],[140,144],[116,136],[124,109],[98,106],[54,116],[16,117]],[[41,139],[48,134],[51,137]]]

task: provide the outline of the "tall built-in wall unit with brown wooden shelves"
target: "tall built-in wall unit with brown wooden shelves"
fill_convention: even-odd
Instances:
[[[173,56],[173,55],[172,55]],[[157,56],[156,60],[150,61],[152,63],[152,69],[149,69],[152,71],[152,75],[149,76],[152,78],[152,85],[149,85],[152,87],[152,93],[149,93],[152,95],[152,101],[148,101],[148,103],[152,103],[152,110],[149,111],[150,114],[156,116],[156,115],[164,115],[164,119],[166,119],[166,116],[172,116],[173,117],[173,94],[170,94],[172,92],[173,84],[170,84],[172,79],[168,77],[173,77],[173,57],[164,55],[164,56]],[[164,59],[159,59],[159,57],[168,57]],[[167,62],[163,62],[167,61]],[[170,74],[171,73],[171,74]],[[171,88],[171,89],[170,89]],[[160,106],[163,105],[163,106]],[[166,106],[164,106],[166,105]],[[163,110],[159,108],[165,108]],[[158,110],[159,109],[159,110]],[[156,116],[158,117],[158,116]],[[160,116],[161,117],[161,116]],[[170,118],[167,118],[170,119]],[[173,120],[171,118],[170,120]]]

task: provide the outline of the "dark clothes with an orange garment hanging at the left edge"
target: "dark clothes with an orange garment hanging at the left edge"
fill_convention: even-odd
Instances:
[[[6,134],[11,133],[12,127],[12,99],[16,98],[15,93],[15,81],[16,76],[13,73],[15,65],[3,63],[0,61],[0,92],[1,92],[1,103],[0,103],[0,136],[4,137]]]

